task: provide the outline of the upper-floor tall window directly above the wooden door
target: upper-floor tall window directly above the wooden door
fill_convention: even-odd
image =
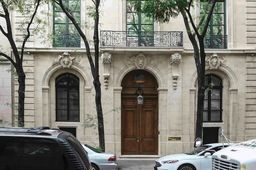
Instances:
[[[140,9],[143,3],[138,0]],[[126,12],[127,45],[153,46],[153,19],[145,17],[141,11],[136,12],[134,5],[128,1]]]

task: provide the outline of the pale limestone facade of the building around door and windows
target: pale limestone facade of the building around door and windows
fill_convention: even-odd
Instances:
[[[81,20],[87,19],[83,15],[87,5],[88,1],[81,1]],[[117,8],[113,10],[113,7]],[[102,8],[103,16],[107,18],[100,20],[102,30],[126,30],[125,1],[108,1]],[[256,55],[255,8],[255,0],[226,1],[227,48],[206,49],[206,74],[217,75],[222,80],[222,121],[205,122],[203,127],[223,128],[226,136],[234,142],[256,138],[256,58],[252,56],[254,53]],[[199,9],[195,8],[193,13],[200,13]],[[14,13],[12,19],[16,20],[18,16]],[[48,28],[49,32],[51,28]],[[123,78],[133,70],[149,72],[158,84],[158,122],[154,122],[158,131],[157,155],[184,153],[193,148],[197,108],[194,51],[181,16],[171,19],[169,24],[155,23],[154,30],[183,31],[183,46],[100,47],[99,61],[102,62],[99,63],[99,75],[102,108],[106,113],[106,152],[114,151],[117,157],[122,155],[122,111],[118,110],[122,107],[121,84]],[[84,30],[84,33],[92,38],[92,30]],[[97,145],[97,129],[82,126],[86,114],[96,114],[95,90],[83,41],[80,48],[48,49],[41,41],[38,35],[33,35],[27,44],[30,54],[24,56],[25,126],[74,127],[80,141]],[[91,52],[94,53],[93,48]],[[79,78],[78,122],[56,121],[56,78],[64,73]],[[15,90],[18,84],[14,80],[13,84],[12,99],[17,104]],[[169,140],[169,137],[178,140]]]

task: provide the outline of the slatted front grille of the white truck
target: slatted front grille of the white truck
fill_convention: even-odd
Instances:
[[[213,156],[212,170],[240,170],[240,163],[235,160],[223,161]]]

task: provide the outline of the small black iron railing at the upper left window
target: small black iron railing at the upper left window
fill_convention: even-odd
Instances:
[[[80,35],[53,34],[53,47],[80,47]]]

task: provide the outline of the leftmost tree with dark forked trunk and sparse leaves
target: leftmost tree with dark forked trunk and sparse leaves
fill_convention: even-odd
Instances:
[[[4,56],[11,61],[12,66],[17,72],[19,89],[18,89],[18,126],[24,126],[24,99],[25,99],[25,78],[26,75],[23,70],[23,55],[26,51],[25,44],[30,39],[31,35],[37,35],[40,31],[45,29],[42,26],[46,20],[38,17],[37,10],[39,6],[45,3],[44,0],[0,0],[0,17],[4,22],[0,23],[1,33],[8,39],[12,48],[14,58],[10,56],[10,51],[7,49],[0,50],[0,56]],[[20,33],[20,37],[16,40],[13,39],[15,29],[12,29],[11,12],[17,11],[23,20],[21,20],[16,28]],[[31,25],[37,22],[38,26],[34,27],[31,31]],[[41,25],[42,24],[42,25]],[[40,27],[41,26],[41,27]]]

